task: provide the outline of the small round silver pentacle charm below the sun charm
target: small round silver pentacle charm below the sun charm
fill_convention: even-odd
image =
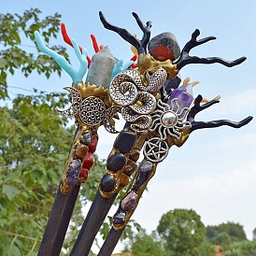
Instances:
[[[169,147],[160,137],[152,137],[146,142],[143,152],[150,162],[160,163],[168,155]]]

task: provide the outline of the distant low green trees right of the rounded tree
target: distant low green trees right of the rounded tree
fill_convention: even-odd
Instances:
[[[215,245],[226,245],[231,242],[247,240],[247,235],[239,223],[227,222],[218,226],[207,226],[206,239]]]

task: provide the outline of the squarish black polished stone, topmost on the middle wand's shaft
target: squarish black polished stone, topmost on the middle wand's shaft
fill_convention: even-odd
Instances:
[[[121,131],[120,135],[115,141],[114,147],[119,149],[121,153],[128,153],[135,144],[136,136],[129,131]]]

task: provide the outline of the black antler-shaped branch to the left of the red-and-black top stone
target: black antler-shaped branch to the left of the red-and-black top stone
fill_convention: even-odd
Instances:
[[[131,33],[129,33],[126,29],[110,24],[105,19],[102,11],[99,12],[100,20],[102,21],[105,28],[118,33],[125,41],[127,41],[128,43],[133,45],[135,47],[135,49],[138,51],[138,53],[145,54],[147,52],[147,46],[148,46],[149,38],[150,38],[150,28],[152,26],[152,23],[151,23],[151,21],[147,21],[146,26],[145,26],[135,12],[133,12],[132,14],[135,17],[135,20],[136,20],[138,26],[140,27],[140,29],[143,32],[143,37],[141,40],[135,38],[135,36],[133,36]]]

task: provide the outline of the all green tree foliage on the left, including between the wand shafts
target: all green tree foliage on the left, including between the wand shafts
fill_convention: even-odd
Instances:
[[[39,75],[57,72],[61,68],[49,56],[38,52],[34,31],[39,30],[46,42],[56,37],[61,15],[41,19],[40,10],[30,9],[22,15],[0,14],[0,255],[36,255],[44,234],[55,192],[64,171],[75,126],[57,115],[68,96],[60,92],[19,94],[4,106],[8,98],[8,76],[19,70],[25,77],[33,71]],[[25,42],[25,43],[24,43]],[[35,45],[23,50],[24,44]],[[68,60],[65,49],[51,46]],[[9,99],[10,100],[10,99]],[[11,105],[11,106],[10,106]],[[68,253],[83,221],[81,208],[92,201],[106,169],[105,161],[95,156],[88,182],[79,192],[69,234],[64,242]],[[101,233],[107,235],[110,223]],[[132,221],[122,238],[140,226]]]

